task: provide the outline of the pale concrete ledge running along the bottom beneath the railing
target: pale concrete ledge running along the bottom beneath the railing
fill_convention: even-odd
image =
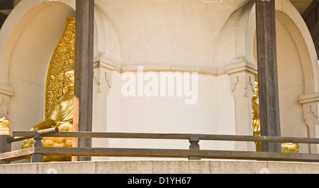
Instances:
[[[0,165],[0,174],[319,174],[319,163],[141,160]]]

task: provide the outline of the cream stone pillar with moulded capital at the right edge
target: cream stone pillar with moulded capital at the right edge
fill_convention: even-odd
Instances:
[[[303,104],[303,118],[308,126],[308,138],[319,138],[319,93],[299,96]],[[309,153],[318,153],[318,145],[309,144]]]

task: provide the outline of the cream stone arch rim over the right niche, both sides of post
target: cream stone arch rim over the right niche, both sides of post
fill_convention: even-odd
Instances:
[[[219,67],[231,64],[233,60],[237,59],[257,63],[254,57],[255,15],[254,2],[250,1],[234,11],[228,18],[218,39],[216,62]],[[276,1],[276,18],[285,24],[293,40],[298,44],[305,75],[305,94],[319,92],[318,57],[306,23],[288,0]]]

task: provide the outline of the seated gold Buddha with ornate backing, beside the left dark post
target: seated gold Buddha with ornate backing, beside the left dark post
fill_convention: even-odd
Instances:
[[[45,91],[45,119],[30,131],[59,128],[72,131],[74,101],[75,18],[67,18],[67,25],[53,52]],[[31,148],[35,140],[23,140],[21,148]],[[72,147],[72,138],[43,138],[43,147]],[[44,157],[45,162],[71,161],[71,157]]]

